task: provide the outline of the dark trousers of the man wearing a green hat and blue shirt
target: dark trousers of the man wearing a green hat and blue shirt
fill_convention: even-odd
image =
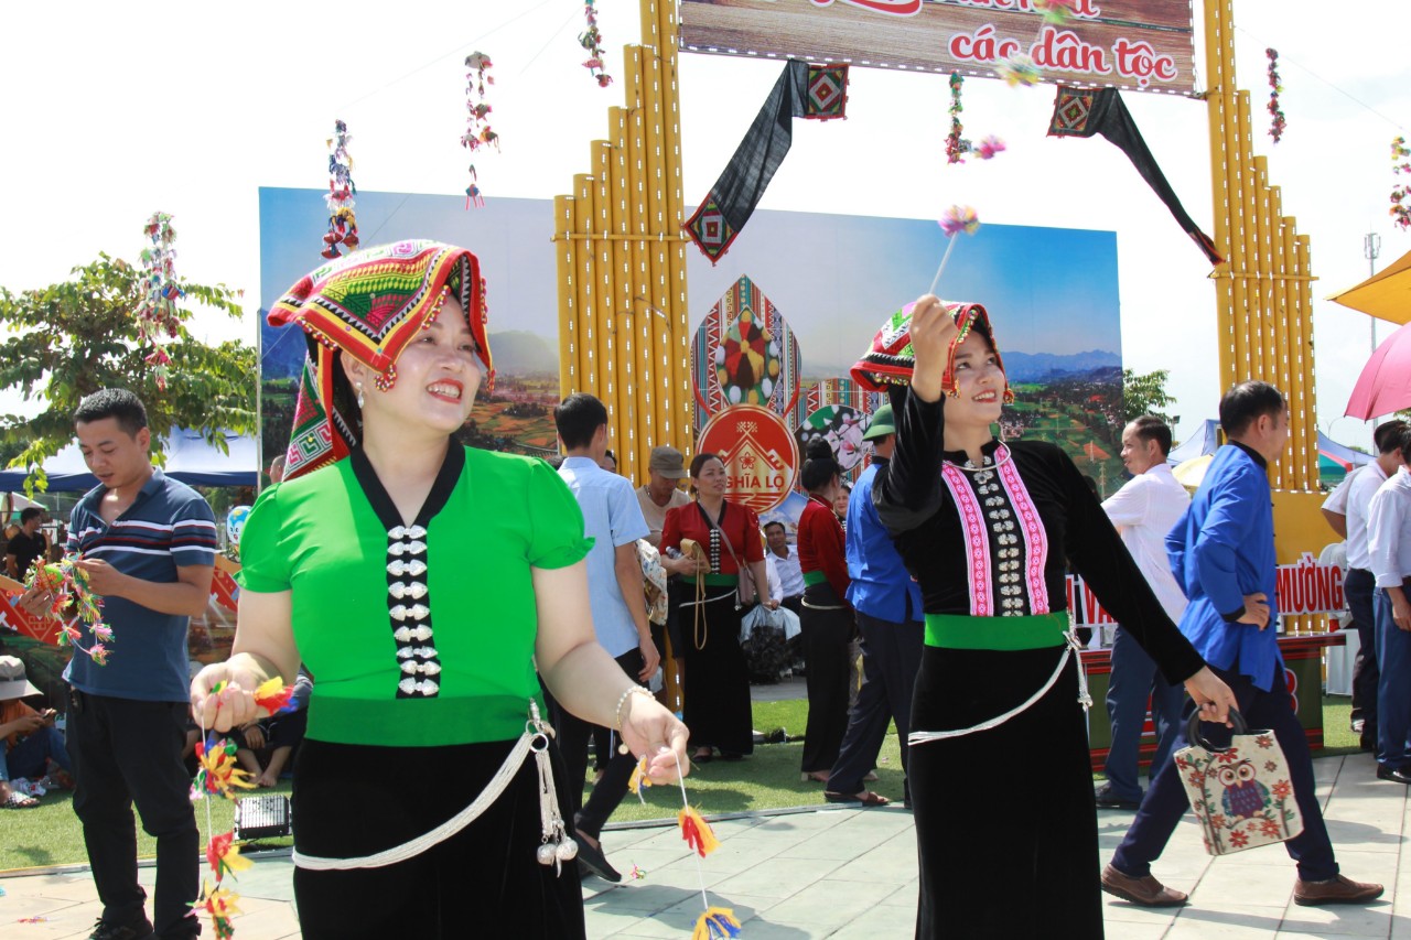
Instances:
[[[862,690],[848,717],[842,749],[828,776],[828,790],[861,793],[862,778],[876,766],[878,752],[886,738],[886,725],[896,721],[902,745],[902,772],[906,773],[906,735],[912,730],[912,694],[921,663],[924,627],[920,621],[895,624],[889,620],[856,613],[862,634]]]

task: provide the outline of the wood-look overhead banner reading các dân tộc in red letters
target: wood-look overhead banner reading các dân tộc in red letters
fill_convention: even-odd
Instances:
[[[1027,55],[1057,85],[1195,93],[1191,0],[682,0],[682,48],[999,76]]]

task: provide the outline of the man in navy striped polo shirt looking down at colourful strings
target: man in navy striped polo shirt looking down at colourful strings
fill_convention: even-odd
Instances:
[[[104,388],[73,415],[79,449],[99,486],[69,519],[68,552],[103,598],[113,628],[104,666],[76,652],[69,682],[68,749],[93,884],[103,916],[90,940],[195,937],[199,834],[181,752],[186,738],[186,629],[206,608],[216,563],[216,519],[190,487],[152,467],[147,409]],[[31,613],[49,597],[21,598]],[[82,645],[95,642],[85,628]],[[155,932],[137,884],[133,803],[157,838]]]

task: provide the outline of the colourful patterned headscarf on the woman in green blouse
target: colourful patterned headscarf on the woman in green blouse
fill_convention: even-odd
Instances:
[[[298,323],[309,342],[285,480],[341,460],[361,438],[361,414],[337,354],[365,364],[387,391],[396,382],[402,350],[436,320],[452,291],[466,311],[487,388],[492,388],[485,282],[466,248],[418,240],[354,251],[315,268],[279,298],[270,309],[270,325]]]

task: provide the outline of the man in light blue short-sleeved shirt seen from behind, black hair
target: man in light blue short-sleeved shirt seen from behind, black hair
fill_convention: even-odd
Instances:
[[[642,563],[636,555],[636,541],[645,539],[650,529],[632,484],[600,466],[608,449],[608,409],[593,395],[579,392],[553,409],[553,423],[567,454],[559,466],[559,476],[577,497],[584,532],[593,539],[587,559],[593,628],[622,672],[645,683],[660,663],[646,617]],[[611,759],[600,754],[602,778],[593,786],[588,802],[583,803],[593,725],[564,709],[556,711],[559,748],[569,771],[569,797],[574,807],[581,805],[574,814],[579,861],[600,878],[621,881],[622,875],[602,854],[598,836],[626,795],[626,782],[636,761],[631,754],[618,754],[615,747]]]

